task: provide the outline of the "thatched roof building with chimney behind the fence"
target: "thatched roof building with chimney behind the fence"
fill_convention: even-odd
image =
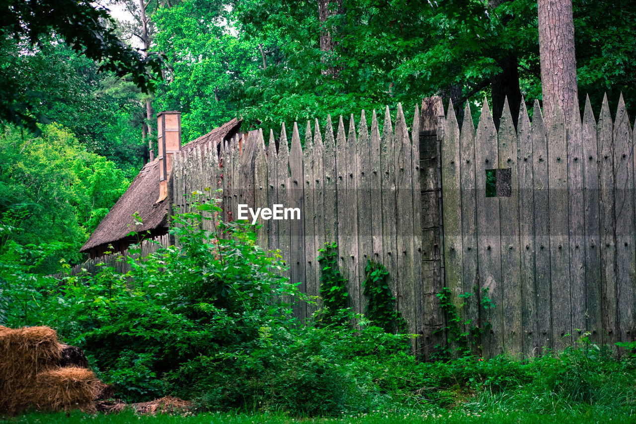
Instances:
[[[130,244],[137,243],[137,237],[128,236],[132,231],[140,235],[143,234],[144,237],[158,237],[167,234],[170,204],[169,199],[165,196],[164,181],[167,182],[167,178],[169,178],[172,153],[179,150],[190,150],[209,141],[220,146],[219,143],[239,134],[241,124],[240,120],[233,119],[204,136],[181,146],[181,118],[179,113],[174,111],[162,112],[157,117],[160,134],[159,157],[146,164],[139,171],[128,190],[114,204],[102,222],[97,225],[86,244],[80,249],[81,252],[89,253],[92,258],[104,255],[105,251],[124,251]],[[170,128],[166,117],[168,121],[173,118],[174,128]],[[165,131],[162,131],[163,129]],[[170,143],[170,136],[174,139],[174,147],[172,149],[165,144],[167,139],[169,139]],[[166,154],[162,155],[162,152]],[[164,157],[166,160],[164,160]],[[167,178],[163,178],[163,175],[166,175]],[[133,215],[139,216],[141,225],[135,224]],[[112,245],[113,248],[109,248],[109,245]]]

